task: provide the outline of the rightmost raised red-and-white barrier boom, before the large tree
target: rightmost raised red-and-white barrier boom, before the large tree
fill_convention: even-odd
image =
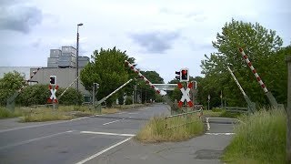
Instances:
[[[263,80],[261,79],[261,77],[258,76],[255,67],[252,65],[251,61],[249,61],[248,57],[246,56],[243,48],[239,48],[239,52],[241,53],[241,55],[244,57],[247,66],[252,70],[253,74],[256,77],[256,81],[259,83],[259,85],[263,88],[266,97],[268,98],[268,100],[270,101],[271,105],[276,108],[277,107],[277,103],[276,103],[276,99],[275,97],[272,95],[272,93],[270,93],[267,88],[266,85],[264,84]]]

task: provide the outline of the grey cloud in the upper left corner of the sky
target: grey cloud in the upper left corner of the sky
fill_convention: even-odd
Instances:
[[[0,30],[29,33],[31,27],[40,24],[42,19],[42,11],[35,6],[21,4],[0,6]]]

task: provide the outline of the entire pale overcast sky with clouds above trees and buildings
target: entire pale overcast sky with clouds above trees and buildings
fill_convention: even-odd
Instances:
[[[214,52],[216,33],[236,20],[276,30],[291,42],[289,0],[0,0],[0,67],[46,67],[49,50],[75,46],[80,56],[116,46],[142,70],[165,79],[188,67],[201,76],[201,60]]]

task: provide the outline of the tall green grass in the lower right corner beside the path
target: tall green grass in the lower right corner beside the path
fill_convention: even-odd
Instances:
[[[263,109],[241,118],[246,124],[235,128],[236,136],[223,159],[233,163],[285,163],[286,113]]]

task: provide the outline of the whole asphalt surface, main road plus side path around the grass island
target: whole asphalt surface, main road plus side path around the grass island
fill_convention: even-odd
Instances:
[[[181,153],[176,154],[176,151],[161,150],[179,147],[181,144],[181,149],[184,149],[184,144],[186,149],[191,151],[190,159],[205,161],[210,158],[209,161],[219,163],[218,157],[233,135],[233,124],[231,124],[233,121],[230,119],[208,118],[209,130],[206,135],[194,138],[199,141],[194,141],[194,145],[191,147],[188,146],[191,145],[190,142],[193,139],[159,146],[149,145],[148,147],[143,147],[142,144],[131,139],[137,130],[146,123],[146,120],[153,116],[168,114],[169,111],[165,105],[157,104],[111,115],[29,124],[16,128],[6,126],[9,128],[0,128],[0,163],[128,164],[145,161],[145,163],[168,164],[173,161],[193,162],[189,160],[187,153],[184,156],[188,158],[184,158]],[[156,154],[151,154],[153,149],[159,152],[157,157]],[[148,153],[146,157],[141,156],[146,152]],[[174,155],[168,156],[171,153]],[[212,155],[208,157],[207,154]],[[160,157],[163,158],[160,159]],[[175,160],[171,160],[174,157],[176,157]]]

